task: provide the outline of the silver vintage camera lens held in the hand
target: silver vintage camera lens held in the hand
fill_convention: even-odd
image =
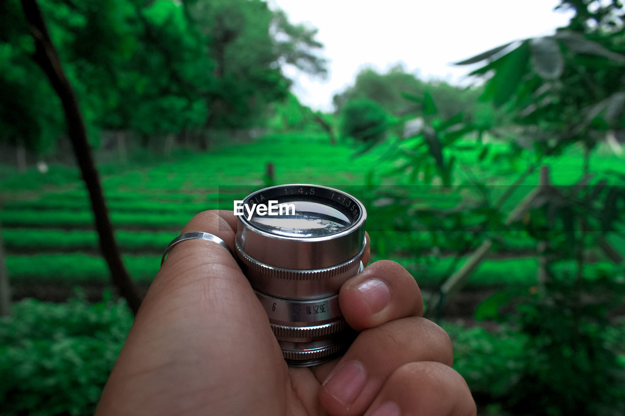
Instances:
[[[355,333],[338,292],[362,270],[364,206],[337,189],[302,184],[261,189],[242,205],[237,252],[284,359],[315,365],[344,352]]]

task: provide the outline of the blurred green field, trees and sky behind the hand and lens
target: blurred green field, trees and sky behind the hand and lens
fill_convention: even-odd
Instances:
[[[624,14],[0,2],[0,415],[92,414],[168,242],[297,182],[365,204],[480,415],[625,414]]]

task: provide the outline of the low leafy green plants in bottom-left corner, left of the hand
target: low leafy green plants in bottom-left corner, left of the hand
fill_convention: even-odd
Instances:
[[[93,414],[132,323],[126,305],[26,299],[12,312],[0,325],[0,414]]]

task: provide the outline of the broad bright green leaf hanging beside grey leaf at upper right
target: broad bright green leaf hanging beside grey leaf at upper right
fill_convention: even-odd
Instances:
[[[527,72],[527,60],[529,59],[529,42],[523,42],[521,46],[509,52],[506,56],[497,59],[493,69],[495,75],[487,82],[482,99],[492,100],[497,107],[507,102]]]

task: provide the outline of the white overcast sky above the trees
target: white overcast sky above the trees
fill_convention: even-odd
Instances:
[[[362,67],[385,72],[398,62],[421,79],[472,82],[471,67],[452,62],[516,39],[566,26],[558,0],[268,0],[294,23],[317,27],[329,77],[285,68],[292,92],[315,110],[333,111],[332,96],[353,84]]]

